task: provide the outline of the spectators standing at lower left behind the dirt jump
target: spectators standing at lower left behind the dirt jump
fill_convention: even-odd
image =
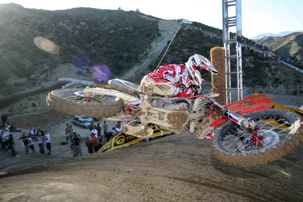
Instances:
[[[91,122],[89,126],[89,133],[85,137],[81,137],[72,125],[66,124],[65,129],[65,140],[60,140],[61,144],[67,144],[70,148],[70,153],[73,153],[73,157],[83,156],[81,149],[81,139],[88,149],[89,154],[95,154],[102,148],[104,144],[109,142],[115,135],[119,134],[123,130],[123,126],[127,124],[127,121],[118,121],[115,127],[111,129],[114,132],[109,131],[109,126],[106,121],[101,126],[100,123],[94,124]],[[10,132],[21,132],[21,136],[13,137]],[[15,136],[17,135],[14,133]],[[15,138],[15,139],[14,139]],[[22,147],[25,150],[25,154],[35,154],[38,149],[39,154],[51,155],[51,136],[44,130],[42,131],[39,127],[32,128],[27,134],[22,132],[21,129],[14,127],[12,124],[7,122],[7,117],[2,116],[2,124],[0,125],[0,146],[2,151],[11,151],[13,157],[16,156],[16,145],[15,141],[22,141]],[[144,142],[148,139],[144,139]],[[37,145],[37,146],[36,146]],[[48,153],[45,154],[45,150]],[[66,151],[64,151],[66,152]]]

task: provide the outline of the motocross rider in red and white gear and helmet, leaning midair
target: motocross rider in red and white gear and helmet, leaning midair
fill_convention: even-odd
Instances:
[[[146,74],[141,80],[141,90],[169,97],[194,96],[200,94],[203,88],[204,79],[200,72],[204,70],[218,74],[207,58],[195,54],[185,65],[162,65],[157,71]]]

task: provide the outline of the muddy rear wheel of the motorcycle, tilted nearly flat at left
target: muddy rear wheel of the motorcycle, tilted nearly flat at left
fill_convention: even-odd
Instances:
[[[81,89],[57,89],[46,96],[49,107],[69,115],[84,115],[87,117],[112,117],[119,114],[124,102],[119,97],[110,95],[86,95]]]

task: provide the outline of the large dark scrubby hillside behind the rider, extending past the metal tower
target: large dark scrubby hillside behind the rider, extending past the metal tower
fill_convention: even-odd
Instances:
[[[0,113],[10,116],[51,110],[43,97],[64,84],[58,76],[139,83],[155,70],[181,22],[134,11],[47,11],[17,4],[0,5],[0,19],[0,100],[5,104]],[[255,53],[260,50],[253,41],[245,41],[249,44],[243,44],[244,96],[255,91],[303,94],[298,87],[303,83],[300,74],[265,60]],[[222,30],[197,22],[182,24],[161,64],[184,63],[194,53],[210,59],[214,46],[223,46]],[[98,64],[107,65],[111,72],[105,75]],[[204,78],[209,91],[211,75]]]

